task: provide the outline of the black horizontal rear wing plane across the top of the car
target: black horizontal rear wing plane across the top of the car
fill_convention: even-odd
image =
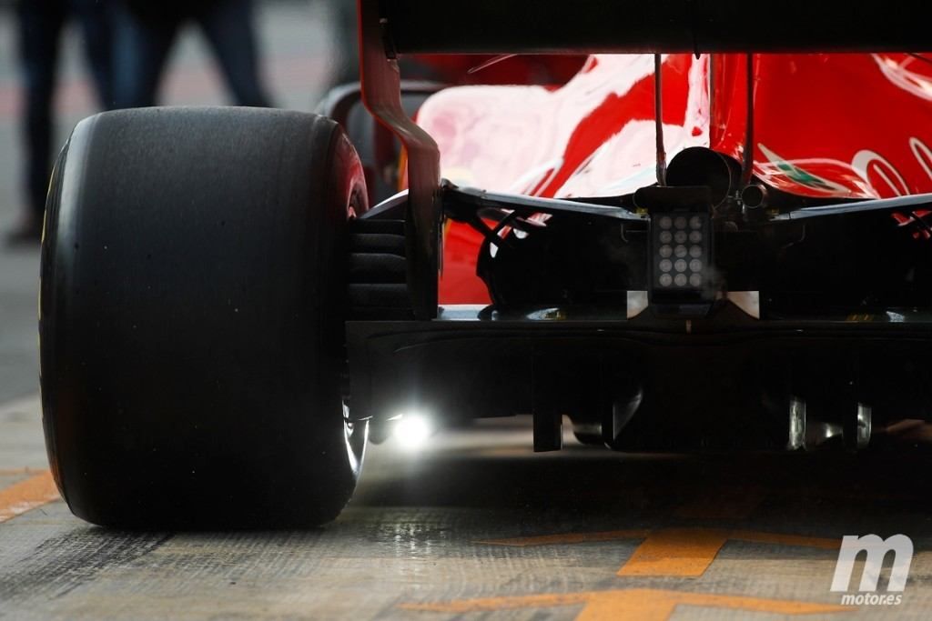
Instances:
[[[368,0],[363,0],[368,2]],[[390,53],[920,51],[932,2],[380,0]]]

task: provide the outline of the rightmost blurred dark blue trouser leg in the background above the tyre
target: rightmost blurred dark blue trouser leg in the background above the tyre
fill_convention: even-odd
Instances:
[[[262,80],[251,0],[217,0],[195,12],[237,105],[271,106]]]

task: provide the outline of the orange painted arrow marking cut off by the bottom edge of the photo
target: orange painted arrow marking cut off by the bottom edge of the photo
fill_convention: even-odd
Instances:
[[[486,598],[441,603],[402,604],[410,611],[463,614],[514,610],[516,608],[555,608],[584,603],[576,621],[666,621],[679,605],[741,610],[769,614],[826,614],[850,611],[847,606],[809,601],[767,600],[733,595],[713,595],[652,588],[583,591],[558,595]]]

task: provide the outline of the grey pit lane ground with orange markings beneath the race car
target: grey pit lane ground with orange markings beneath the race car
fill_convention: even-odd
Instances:
[[[419,452],[390,439],[322,529],[125,533],[57,500],[38,400],[20,399],[0,408],[0,618],[928,617],[926,457],[567,445],[534,454],[521,419],[445,431]],[[867,533],[914,542],[899,605],[829,592],[842,536]]]

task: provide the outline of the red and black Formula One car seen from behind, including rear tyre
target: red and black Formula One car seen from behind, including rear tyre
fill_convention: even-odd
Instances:
[[[322,115],[82,121],[40,303],[68,505],[326,522],[369,427],[409,412],[532,413],[536,451],[564,416],[620,451],[859,450],[932,420],[932,5],[756,10],[361,0],[361,97],[404,145],[372,207]],[[590,56],[559,87],[423,93],[415,124],[397,58],[424,53]]]

